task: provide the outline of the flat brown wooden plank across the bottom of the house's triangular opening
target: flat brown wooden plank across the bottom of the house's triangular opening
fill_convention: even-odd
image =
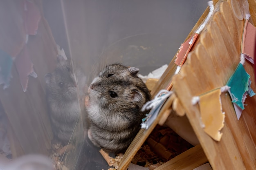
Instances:
[[[192,170],[204,163],[207,163],[207,157],[204,155],[202,147],[197,145],[155,168],[155,170]]]

